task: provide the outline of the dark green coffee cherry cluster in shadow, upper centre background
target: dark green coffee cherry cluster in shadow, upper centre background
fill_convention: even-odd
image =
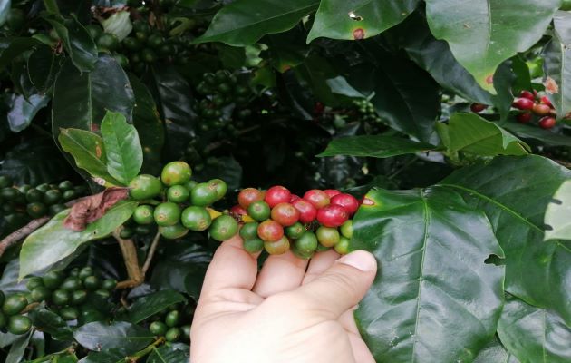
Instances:
[[[246,120],[252,114],[247,103],[254,93],[247,85],[239,82],[236,72],[218,70],[216,73],[203,74],[197,92],[204,96],[198,103],[198,114],[202,119],[200,130],[203,132],[225,126],[230,129],[239,128],[239,120]],[[235,109],[228,109],[232,105]],[[235,125],[230,123],[233,115],[236,115],[238,120]]]

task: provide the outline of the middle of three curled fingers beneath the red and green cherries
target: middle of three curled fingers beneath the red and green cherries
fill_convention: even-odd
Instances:
[[[257,277],[253,291],[267,298],[278,292],[297,289],[301,285],[307,268],[307,260],[298,259],[288,250],[281,255],[270,255]]]

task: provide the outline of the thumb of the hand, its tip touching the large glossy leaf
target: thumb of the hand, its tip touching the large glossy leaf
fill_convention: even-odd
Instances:
[[[376,273],[374,256],[356,250],[336,260],[323,274],[295,292],[303,296],[308,309],[325,311],[337,319],[363,299]]]

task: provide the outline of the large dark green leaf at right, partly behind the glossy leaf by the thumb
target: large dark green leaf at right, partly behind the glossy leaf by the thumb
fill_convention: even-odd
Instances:
[[[496,157],[453,172],[440,187],[484,211],[506,253],[505,289],[571,324],[571,249],[544,242],[547,205],[571,171],[540,156]]]

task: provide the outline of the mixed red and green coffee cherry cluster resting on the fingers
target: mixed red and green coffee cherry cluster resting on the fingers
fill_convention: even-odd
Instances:
[[[334,248],[347,253],[353,236],[350,218],[359,208],[353,195],[336,190],[311,190],[303,198],[283,186],[267,191],[247,188],[230,212],[246,221],[240,230],[244,249],[282,254],[292,250],[303,259]]]

